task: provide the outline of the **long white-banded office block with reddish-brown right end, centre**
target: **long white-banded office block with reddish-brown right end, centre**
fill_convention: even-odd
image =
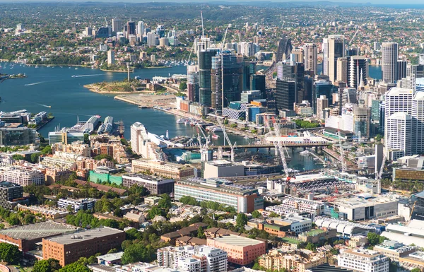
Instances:
[[[264,208],[264,199],[257,189],[240,187],[226,179],[185,179],[175,183],[175,199],[192,196],[197,201],[215,201],[250,213]]]

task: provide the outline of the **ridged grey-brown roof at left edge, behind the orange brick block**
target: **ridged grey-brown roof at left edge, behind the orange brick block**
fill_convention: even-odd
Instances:
[[[29,225],[21,225],[0,230],[0,235],[6,235],[13,239],[19,240],[35,240],[54,235],[76,232],[78,228],[71,225],[54,223],[53,221],[45,221]]]

